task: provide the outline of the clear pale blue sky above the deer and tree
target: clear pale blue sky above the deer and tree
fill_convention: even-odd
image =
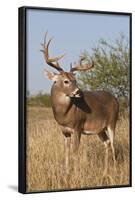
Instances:
[[[114,41],[120,33],[127,38],[130,34],[126,15],[27,9],[26,16],[27,90],[30,94],[49,93],[53,84],[43,74],[44,69],[55,71],[45,63],[40,51],[46,31],[48,39],[53,37],[50,57],[66,53],[59,62],[65,71],[69,71],[70,63],[77,61],[82,51],[91,53],[100,38]]]

